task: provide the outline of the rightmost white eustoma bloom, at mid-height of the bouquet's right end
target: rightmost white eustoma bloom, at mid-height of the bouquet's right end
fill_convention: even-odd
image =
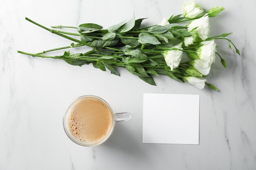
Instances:
[[[200,60],[212,64],[215,62],[215,53],[216,50],[216,43],[214,40],[210,41],[203,41],[200,43],[202,46],[200,46],[196,52],[196,54],[200,57]]]

